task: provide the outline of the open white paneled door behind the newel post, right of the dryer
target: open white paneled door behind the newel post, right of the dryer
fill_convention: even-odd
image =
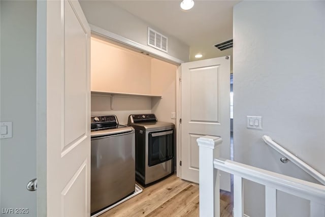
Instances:
[[[201,136],[222,138],[220,157],[230,159],[230,57],[181,65],[181,178],[199,182]],[[230,191],[230,175],[220,188]]]

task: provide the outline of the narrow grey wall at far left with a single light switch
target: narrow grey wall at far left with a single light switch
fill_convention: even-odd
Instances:
[[[1,1],[1,121],[13,138],[1,139],[1,208],[28,208],[36,216],[36,1]],[[4,214],[1,216],[17,216]]]

